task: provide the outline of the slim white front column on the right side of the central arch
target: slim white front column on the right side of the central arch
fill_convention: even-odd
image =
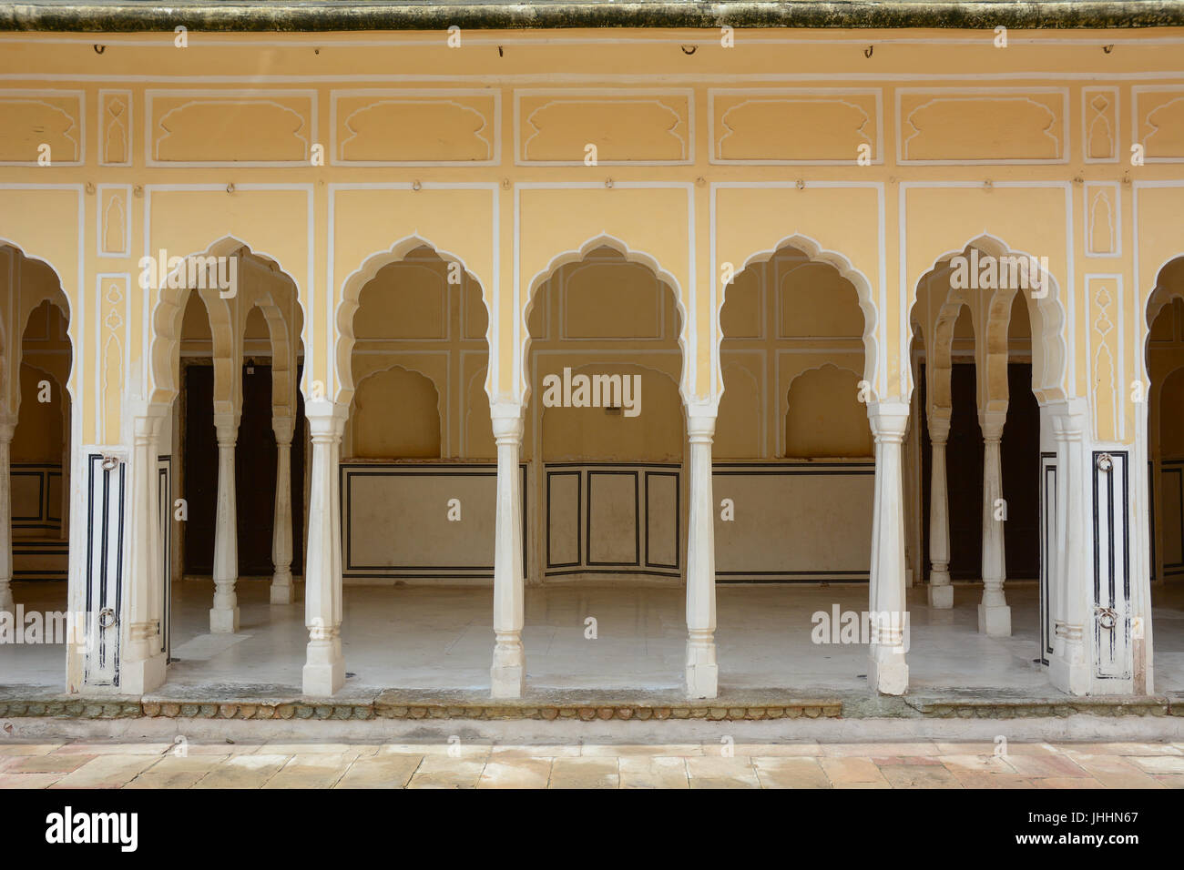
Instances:
[[[687,407],[690,443],[690,508],[687,521],[687,697],[714,698],[720,665],[715,659],[715,504],[712,496],[712,439],[715,412]]]

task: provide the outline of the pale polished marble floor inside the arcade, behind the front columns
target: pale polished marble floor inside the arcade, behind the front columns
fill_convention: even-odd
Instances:
[[[62,582],[17,582],[26,611],[62,610]],[[1018,689],[1051,691],[1037,656],[1037,591],[1008,587],[1014,633],[976,631],[979,591],[955,588],[952,611],[909,589],[910,691]],[[242,692],[298,692],[304,663],[304,608],[271,605],[265,580],[238,584],[237,634],[210,634],[213,585],[173,585],[173,657],[168,688],[226,685]],[[1157,588],[1156,670],[1159,692],[1184,690],[1184,584]],[[490,588],[347,586],[342,646],[348,689],[488,690],[493,649]],[[816,644],[813,614],[867,610],[867,586],[721,586],[718,631],[721,689],[839,691],[867,685],[867,647]],[[591,638],[588,618],[596,620]],[[673,587],[579,585],[528,587],[528,684],[547,689],[675,689],[682,684],[683,592]],[[0,645],[0,685],[62,689],[60,645]]]

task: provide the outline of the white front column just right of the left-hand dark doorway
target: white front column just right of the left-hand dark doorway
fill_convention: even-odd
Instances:
[[[346,683],[341,652],[341,505],[337,460],[346,408],[328,399],[304,406],[313,432],[313,469],[308,505],[308,550],[304,559],[304,625],[308,657],[304,694],[329,696]]]

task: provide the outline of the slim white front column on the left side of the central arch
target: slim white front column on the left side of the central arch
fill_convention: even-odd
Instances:
[[[494,529],[494,664],[489,669],[495,698],[522,697],[526,649],[522,646],[522,408],[494,405],[490,411],[497,442],[497,518]]]

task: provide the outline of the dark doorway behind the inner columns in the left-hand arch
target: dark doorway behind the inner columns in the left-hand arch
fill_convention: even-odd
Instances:
[[[185,573],[211,574],[218,501],[218,437],[213,417],[214,369],[185,369],[185,489],[189,518],[185,523]],[[304,530],[304,400],[296,393],[292,438],[292,567],[303,573]],[[276,437],[271,428],[271,366],[243,367],[243,417],[234,451],[234,502],[238,520],[238,574],[272,573],[271,537],[276,494]]]

